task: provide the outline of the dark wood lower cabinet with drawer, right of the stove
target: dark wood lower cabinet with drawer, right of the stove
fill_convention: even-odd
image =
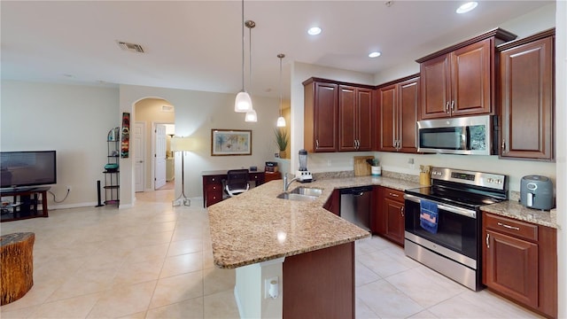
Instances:
[[[483,213],[483,284],[510,300],[557,317],[555,229]]]

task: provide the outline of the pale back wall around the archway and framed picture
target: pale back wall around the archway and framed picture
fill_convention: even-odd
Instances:
[[[263,171],[265,162],[274,160],[277,147],[274,142],[274,128],[279,114],[279,98],[254,97],[252,104],[258,113],[258,122],[247,123],[244,113],[234,113],[236,94],[212,93],[183,89],[164,89],[143,86],[120,85],[120,109],[136,113],[133,106],[146,97],[163,98],[175,106],[175,135],[192,136],[198,142],[198,150],[185,155],[185,195],[190,198],[202,196],[201,172],[206,170],[229,169],[256,166]],[[251,156],[211,156],[211,129],[251,129]],[[133,151],[130,151],[133,152]],[[175,155],[175,194],[181,194],[181,154]],[[124,173],[124,175],[122,175]],[[124,178],[123,178],[124,177]],[[120,161],[120,181],[134,178],[131,159]],[[120,206],[133,194],[132,183],[129,188],[120,185]]]

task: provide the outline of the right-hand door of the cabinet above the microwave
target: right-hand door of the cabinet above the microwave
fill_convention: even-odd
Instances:
[[[491,113],[493,39],[451,53],[452,116]]]

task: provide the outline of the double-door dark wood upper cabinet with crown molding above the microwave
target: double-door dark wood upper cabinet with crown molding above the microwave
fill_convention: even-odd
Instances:
[[[419,120],[495,113],[494,46],[515,38],[496,28],[416,60],[422,90]]]

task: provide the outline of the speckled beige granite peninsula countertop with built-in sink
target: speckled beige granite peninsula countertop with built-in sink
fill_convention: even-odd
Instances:
[[[418,183],[389,177],[330,178],[313,183],[291,183],[322,188],[313,201],[276,198],[282,180],[252,188],[237,197],[208,207],[214,264],[237,268],[261,261],[307,253],[369,237],[366,230],[322,208],[335,189],[382,185],[403,191]]]

